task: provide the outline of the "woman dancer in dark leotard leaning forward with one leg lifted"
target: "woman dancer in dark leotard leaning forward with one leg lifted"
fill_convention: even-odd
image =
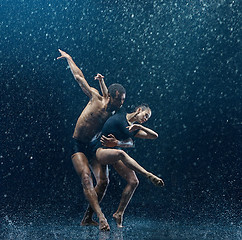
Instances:
[[[126,111],[121,108],[115,115],[106,121],[102,129],[101,141],[97,141],[95,147],[95,149],[97,149],[97,160],[103,165],[112,164],[115,170],[127,181],[118,210],[113,214],[118,227],[122,227],[124,211],[139,183],[134,171],[146,176],[156,186],[164,186],[164,182],[161,178],[146,171],[125,151],[117,149],[120,147],[128,147],[129,145],[123,142],[128,138],[157,138],[158,134],[156,132],[141,125],[146,122],[150,116],[151,110],[146,104],[138,106],[132,113],[126,113]],[[137,124],[135,122],[137,122]],[[112,143],[110,143],[109,139],[109,144],[106,144],[107,138],[112,138]]]

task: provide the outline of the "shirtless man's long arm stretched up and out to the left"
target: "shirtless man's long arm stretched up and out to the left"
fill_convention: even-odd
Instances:
[[[77,65],[74,63],[72,57],[67,54],[66,52],[58,49],[61,56],[58,57],[57,59],[61,59],[61,58],[65,58],[70,66],[71,72],[74,76],[74,78],[76,79],[76,81],[78,82],[78,84],[80,85],[80,87],[82,88],[82,91],[89,97],[92,97],[92,88],[89,86],[89,84],[87,83],[81,69],[79,69],[77,67]]]

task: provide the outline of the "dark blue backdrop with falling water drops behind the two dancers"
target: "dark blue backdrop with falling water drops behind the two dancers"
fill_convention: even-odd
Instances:
[[[5,0],[0,12],[1,214],[37,206],[81,212],[71,136],[88,102],[58,48],[91,86],[127,89],[146,102],[155,141],[129,151],[165,181],[140,186],[127,211],[159,216],[239,216],[241,180],[239,1]],[[104,212],[124,183],[111,170]],[[132,210],[132,211],[131,211]]]

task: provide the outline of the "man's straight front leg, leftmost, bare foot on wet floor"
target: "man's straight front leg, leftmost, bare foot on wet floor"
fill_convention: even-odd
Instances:
[[[99,219],[99,229],[106,231],[110,230],[108,222],[98,204],[98,197],[93,187],[91,171],[89,169],[88,160],[86,156],[80,152],[75,153],[72,155],[72,162],[77,174],[80,176],[82,180],[82,187],[85,197],[88,200],[94,212],[97,214],[97,217]]]

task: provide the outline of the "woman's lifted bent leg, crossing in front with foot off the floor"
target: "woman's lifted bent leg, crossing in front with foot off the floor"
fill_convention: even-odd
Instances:
[[[103,165],[114,164],[118,160],[121,160],[128,168],[144,175],[154,185],[161,186],[161,187],[164,186],[164,182],[161,178],[146,171],[143,167],[141,167],[133,158],[131,158],[123,150],[99,148],[96,152],[96,157],[97,157],[97,160]]]

